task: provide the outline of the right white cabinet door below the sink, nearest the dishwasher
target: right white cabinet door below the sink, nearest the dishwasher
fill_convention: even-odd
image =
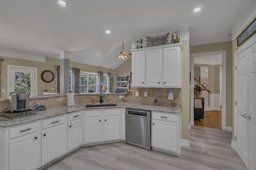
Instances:
[[[104,117],[104,141],[120,139],[120,116]]]

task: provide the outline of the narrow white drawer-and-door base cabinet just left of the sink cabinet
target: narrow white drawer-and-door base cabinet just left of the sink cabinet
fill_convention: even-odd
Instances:
[[[68,115],[68,150],[82,145],[82,116],[84,111]]]

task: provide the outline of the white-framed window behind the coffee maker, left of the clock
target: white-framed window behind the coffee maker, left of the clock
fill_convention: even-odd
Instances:
[[[37,68],[7,65],[7,91],[30,92],[37,95]]]

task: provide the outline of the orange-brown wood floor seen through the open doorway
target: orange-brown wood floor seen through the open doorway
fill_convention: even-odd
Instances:
[[[204,111],[204,119],[194,119],[194,125],[221,129],[221,111]]]

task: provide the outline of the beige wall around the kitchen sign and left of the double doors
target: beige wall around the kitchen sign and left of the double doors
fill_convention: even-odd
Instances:
[[[247,24],[247,25],[244,25],[243,26],[243,29],[242,29],[242,31],[244,31],[244,29],[246,29],[246,27],[248,27],[249,25],[250,25],[250,23],[253,21],[253,20],[255,20],[255,18],[256,18],[256,16]],[[240,32],[240,33],[242,33],[242,31]],[[240,35],[240,33],[238,34],[238,36]],[[237,36],[237,37],[238,37]],[[252,37],[254,37],[254,36],[256,36],[256,34],[254,33],[254,35],[252,36]],[[246,41],[244,41],[244,43],[242,43],[239,47],[237,46],[237,41],[236,41],[236,39],[237,39],[237,37],[234,37],[234,39],[233,39],[233,41],[232,41],[232,58],[234,59],[234,57],[235,57],[235,52],[240,48],[240,47],[242,47],[242,45],[244,44],[244,43],[246,43],[247,41],[249,41],[252,37],[250,37],[250,38],[248,38]],[[232,61],[232,86],[234,87],[234,75],[235,75],[235,72],[234,72],[234,65],[235,65],[235,61],[233,60]],[[234,88],[232,88],[232,122],[233,122],[233,124],[234,124],[234,101],[235,101],[235,99],[234,99]],[[233,126],[233,132],[234,132],[234,126]],[[232,140],[234,141],[234,133],[232,133]]]

